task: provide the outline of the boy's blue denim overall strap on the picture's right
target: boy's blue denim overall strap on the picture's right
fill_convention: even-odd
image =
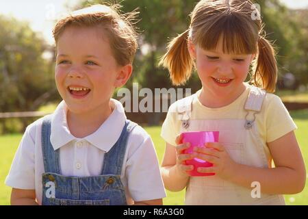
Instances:
[[[127,139],[129,133],[137,126],[137,123],[131,122],[131,120],[126,120],[125,126],[123,127],[122,133],[118,141],[112,146],[112,149],[105,153],[103,168],[101,170],[101,175],[120,175],[124,155],[127,148]]]

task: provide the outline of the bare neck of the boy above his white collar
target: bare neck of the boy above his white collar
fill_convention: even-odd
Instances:
[[[94,133],[112,114],[114,106],[111,103],[102,105],[91,112],[76,114],[68,110],[67,123],[70,133],[76,138],[84,138]]]

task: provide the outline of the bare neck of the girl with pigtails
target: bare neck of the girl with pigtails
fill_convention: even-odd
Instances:
[[[220,108],[227,106],[236,99],[246,90],[246,86],[243,83],[241,88],[235,90],[229,95],[216,95],[211,93],[205,86],[202,87],[201,92],[198,93],[198,100],[202,105],[209,108]]]

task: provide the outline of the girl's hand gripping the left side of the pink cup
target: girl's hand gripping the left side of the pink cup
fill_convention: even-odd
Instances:
[[[190,143],[184,143],[181,144],[181,140],[182,140],[182,135],[180,134],[179,136],[177,136],[175,142],[177,143],[177,146],[175,147],[176,151],[177,151],[177,164],[176,164],[176,168],[178,170],[178,172],[185,176],[188,177],[188,173],[187,171],[193,170],[194,166],[192,165],[186,165],[185,164],[185,160],[188,159],[192,159],[194,158],[193,154],[184,154],[183,151],[185,149],[188,149],[190,147]]]

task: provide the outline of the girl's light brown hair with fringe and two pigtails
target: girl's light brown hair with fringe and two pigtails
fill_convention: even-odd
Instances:
[[[222,38],[224,53],[257,54],[251,83],[274,92],[277,62],[274,48],[264,36],[260,19],[253,19],[253,3],[243,0],[201,0],[192,11],[190,28],[168,44],[159,64],[168,68],[173,84],[181,85],[192,75],[194,60],[188,52],[188,38],[202,49],[216,49]]]

